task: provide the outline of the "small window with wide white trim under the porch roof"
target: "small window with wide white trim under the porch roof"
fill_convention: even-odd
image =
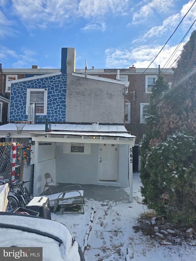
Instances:
[[[64,154],[90,154],[90,143],[65,142],[63,146]]]

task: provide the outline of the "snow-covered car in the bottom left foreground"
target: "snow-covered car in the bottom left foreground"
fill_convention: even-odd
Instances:
[[[0,212],[0,235],[1,260],[2,255],[13,257],[20,253],[14,252],[15,248],[26,249],[21,252],[25,256],[34,255],[31,249],[41,248],[39,256],[42,255],[43,259],[38,260],[85,261],[83,252],[69,229],[53,220],[27,214]]]

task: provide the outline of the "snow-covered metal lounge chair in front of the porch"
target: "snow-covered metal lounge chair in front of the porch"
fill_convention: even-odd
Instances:
[[[66,191],[67,189],[70,189],[71,187],[75,187],[77,186],[80,190],[69,190],[69,191]],[[49,201],[55,201],[54,203],[54,209],[53,209],[53,213],[55,213],[56,211],[56,208],[59,206],[75,206],[75,205],[81,205],[82,206],[82,212],[67,212],[67,214],[76,214],[76,213],[81,213],[81,214],[85,214],[85,211],[84,211],[84,205],[85,205],[85,201],[84,201],[84,191],[82,190],[82,187],[80,185],[69,185],[69,186],[66,186],[62,189],[62,192],[60,193],[56,193],[56,194],[52,194],[52,195],[48,195],[48,199]],[[60,201],[65,201],[65,200],[68,200],[68,199],[78,199],[80,201],[74,201],[72,203],[63,203],[60,204],[59,202]],[[62,213],[61,213],[62,214]],[[64,213],[66,214],[66,212]]]

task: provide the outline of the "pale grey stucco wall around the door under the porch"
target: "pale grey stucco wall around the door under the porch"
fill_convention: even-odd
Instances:
[[[108,186],[128,186],[128,146],[119,145],[118,182],[99,181],[99,144],[91,144],[90,155],[62,154],[63,143],[56,143],[56,182]]]

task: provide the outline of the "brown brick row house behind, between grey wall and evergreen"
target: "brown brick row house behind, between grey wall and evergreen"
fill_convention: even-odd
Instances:
[[[84,73],[84,69],[76,72]],[[124,125],[126,129],[136,136],[133,147],[133,170],[140,171],[139,142],[145,135],[146,113],[149,107],[149,99],[152,93],[152,86],[158,74],[164,73],[168,84],[173,81],[173,70],[168,68],[135,68],[134,65],[127,69],[94,69],[87,73],[109,79],[119,79],[130,82],[124,95],[125,112]],[[118,106],[116,104],[116,106]]]

